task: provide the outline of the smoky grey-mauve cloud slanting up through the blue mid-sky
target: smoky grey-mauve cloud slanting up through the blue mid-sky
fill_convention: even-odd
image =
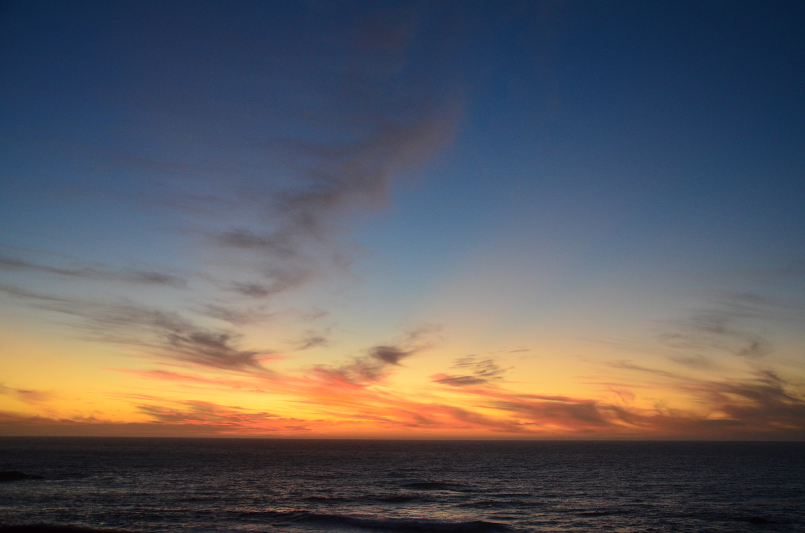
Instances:
[[[380,109],[374,112],[378,116],[366,118],[374,126],[367,126],[353,141],[274,144],[272,149],[297,161],[292,172],[299,180],[264,196],[262,211],[270,229],[236,227],[210,235],[217,246],[252,254],[254,268],[266,279],[234,281],[231,290],[265,297],[314,279],[328,263],[322,256],[335,258],[331,264],[343,263],[343,258],[337,259],[342,253],[332,250],[329,241],[336,217],[384,203],[393,176],[423,163],[448,143],[455,122],[454,112],[430,106],[393,108],[389,113],[396,120]]]

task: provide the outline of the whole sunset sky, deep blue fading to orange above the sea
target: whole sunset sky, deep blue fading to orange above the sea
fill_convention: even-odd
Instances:
[[[4,2],[0,435],[805,439],[802,2]]]

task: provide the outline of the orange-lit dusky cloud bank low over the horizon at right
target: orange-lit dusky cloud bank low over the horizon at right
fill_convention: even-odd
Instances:
[[[457,360],[460,365],[484,368],[495,377],[496,366],[479,366],[472,357]],[[529,432],[543,436],[585,436],[588,438],[805,438],[805,388],[781,378],[771,370],[758,370],[741,379],[703,380],[637,366],[612,363],[624,370],[663,378],[665,390],[675,390],[677,399],[693,399],[699,409],[667,407],[657,401],[654,408],[635,407],[635,395],[628,386],[612,384],[622,404],[601,399],[523,394],[493,386],[477,374],[433,376],[435,382],[484,399],[484,407],[514,415]],[[681,396],[680,396],[681,395]]]

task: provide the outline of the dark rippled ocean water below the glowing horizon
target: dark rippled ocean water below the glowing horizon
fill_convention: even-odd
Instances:
[[[0,525],[805,531],[805,444],[0,439]]]

